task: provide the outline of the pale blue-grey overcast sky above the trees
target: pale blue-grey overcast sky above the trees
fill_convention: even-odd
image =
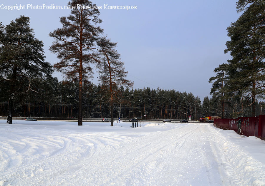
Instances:
[[[100,10],[104,34],[117,42],[117,50],[125,62],[127,79],[134,88],[175,89],[195,96],[209,95],[214,68],[225,63],[226,28],[238,19],[236,0],[189,1],[92,1]],[[0,9],[0,22],[6,25],[20,15],[29,16],[35,37],[44,41],[46,61],[58,62],[50,53],[53,39],[49,32],[61,28],[59,17],[70,10],[27,9],[32,6],[65,6],[64,0],[1,0],[0,8],[25,5],[25,10]],[[104,6],[136,6],[137,9],[104,9]],[[55,73],[59,80],[62,75]],[[95,73],[94,83],[97,80]]]

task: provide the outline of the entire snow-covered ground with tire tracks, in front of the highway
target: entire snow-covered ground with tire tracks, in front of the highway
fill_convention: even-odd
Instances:
[[[211,124],[0,120],[0,186],[265,185],[265,142]]]

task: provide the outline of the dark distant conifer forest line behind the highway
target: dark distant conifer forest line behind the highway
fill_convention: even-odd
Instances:
[[[0,116],[6,116],[8,110],[8,85],[0,85]],[[77,118],[78,82],[58,81],[57,78],[46,79],[36,89],[22,93],[14,100],[14,116],[21,117],[58,117]],[[84,84],[84,118],[110,118],[109,92],[94,83]],[[226,103],[225,118],[249,116],[249,107],[241,112],[240,102]],[[69,105],[69,106],[68,106]],[[142,106],[143,105],[143,106]],[[256,102],[256,115],[264,113],[265,104]],[[121,111],[120,111],[121,110]],[[221,116],[221,103],[217,97],[204,97],[203,101],[192,93],[164,89],[134,89],[120,87],[115,95],[114,118],[141,117],[147,119],[181,119],[199,120],[203,116]]]

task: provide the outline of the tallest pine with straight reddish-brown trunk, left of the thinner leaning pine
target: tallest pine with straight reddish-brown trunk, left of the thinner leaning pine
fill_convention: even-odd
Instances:
[[[57,58],[61,59],[54,67],[63,72],[67,79],[79,81],[79,103],[78,103],[78,125],[82,125],[83,118],[83,83],[88,82],[92,76],[93,62],[97,60],[95,53],[95,41],[99,34],[103,32],[99,26],[102,22],[98,18],[98,9],[77,9],[77,5],[93,7],[96,6],[88,0],[72,0],[68,6],[75,7],[71,10],[71,15],[61,17],[62,28],[49,33],[54,38],[50,50],[57,53]]]

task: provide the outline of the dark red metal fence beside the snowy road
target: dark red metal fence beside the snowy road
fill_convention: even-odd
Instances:
[[[265,115],[237,119],[214,119],[218,128],[234,130],[240,135],[256,136],[265,140]]]

